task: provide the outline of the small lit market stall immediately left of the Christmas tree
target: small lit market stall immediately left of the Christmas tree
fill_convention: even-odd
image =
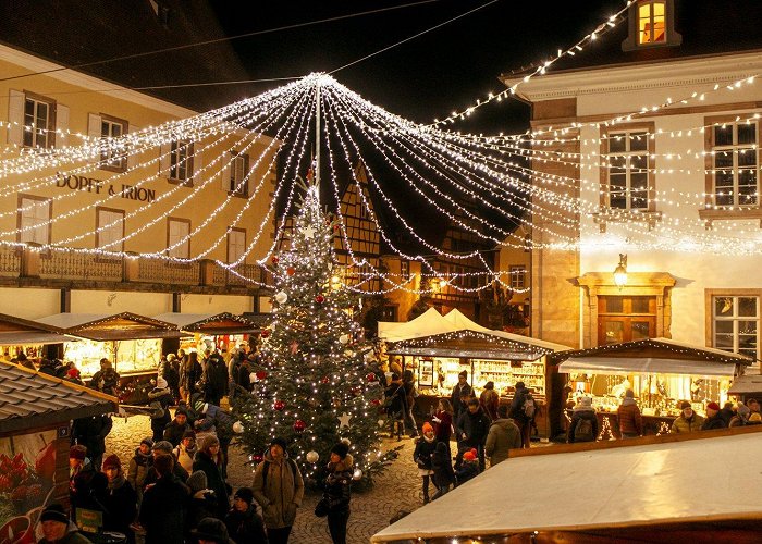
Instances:
[[[153,319],[174,324],[187,335],[180,338],[179,347],[202,354],[206,349],[219,349],[230,354],[241,345],[248,346],[249,336],[260,332],[254,321],[233,313],[169,312]],[[167,353],[168,349],[164,349]]]

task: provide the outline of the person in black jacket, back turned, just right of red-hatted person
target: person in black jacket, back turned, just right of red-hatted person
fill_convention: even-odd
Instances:
[[[146,544],[184,544],[188,487],[172,474],[172,457],[153,460],[158,480],[146,486],[138,519],[146,530]]]

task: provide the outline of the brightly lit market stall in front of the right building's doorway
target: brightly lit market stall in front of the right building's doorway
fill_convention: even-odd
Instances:
[[[635,392],[646,434],[661,434],[679,416],[681,400],[689,400],[702,415],[711,401],[722,406],[734,376],[752,362],[741,355],[668,338],[610,344],[556,354],[553,359],[567,376],[567,386],[555,388],[560,406],[591,396],[603,438],[619,437],[616,410],[626,390]]]

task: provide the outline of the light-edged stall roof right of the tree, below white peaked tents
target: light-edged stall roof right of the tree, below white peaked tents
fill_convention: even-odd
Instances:
[[[521,338],[525,338],[521,336]],[[531,341],[533,338],[525,338]],[[469,359],[530,361],[551,353],[525,341],[513,341],[478,331],[454,331],[422,338],[390,343],[390,355],[417,355],[423,357],[466,357]]]

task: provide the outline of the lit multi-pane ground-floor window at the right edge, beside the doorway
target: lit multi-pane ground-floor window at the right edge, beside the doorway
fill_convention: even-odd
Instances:
[[[718,349],[759,358],[760,296],[712,296],[712,344]]]

